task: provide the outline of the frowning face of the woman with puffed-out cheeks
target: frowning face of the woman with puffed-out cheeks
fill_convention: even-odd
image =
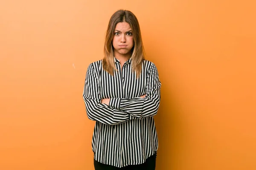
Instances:
[[[130,24],[126,22],[116,24],[112,43],[115,56],[119,55],[125,57],[131,54],[131,48],[134,46],[134,39]]]

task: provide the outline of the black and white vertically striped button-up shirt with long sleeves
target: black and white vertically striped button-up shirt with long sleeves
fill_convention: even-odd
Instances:
[[[114,76],[102,68],[102,60],[87,69],[83,98],[89,119],[96,121],[92,149],[94,159],[115,167],[143,164],[158,149],[154,118],[160,103],[161,83],[154,63],[144,60],[139,78],[126,61]],[[145,98],[140,96],[146,94]],[[109,105],[101,104],[110,99]]]

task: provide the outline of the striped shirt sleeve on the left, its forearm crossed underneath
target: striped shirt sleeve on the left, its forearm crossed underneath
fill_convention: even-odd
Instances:
[[[90,64],[87,69],[83,98],[87,116],[91,120],[115,125],[131,118],[128,113],[101,103],[99,79],[93,64]]]

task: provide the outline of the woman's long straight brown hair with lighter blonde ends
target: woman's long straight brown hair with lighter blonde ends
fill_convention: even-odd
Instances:
[[[137,17],[131,11],[118,10],[111,16],[105,38],[102,67],[112,76],[114,75],[114,71],[117,71],[114,63],[114,50],[112,40],[115,34],[116,24],[120,22],[126,22],[131,26],[131,31],[134,38],[134,47],[131,49],[131,63],[132,70],[136,72],[136,76],[138,78],[140,77],[142,71],[142,62],[145,56],[145,51],[143,48],[139,22]]]

